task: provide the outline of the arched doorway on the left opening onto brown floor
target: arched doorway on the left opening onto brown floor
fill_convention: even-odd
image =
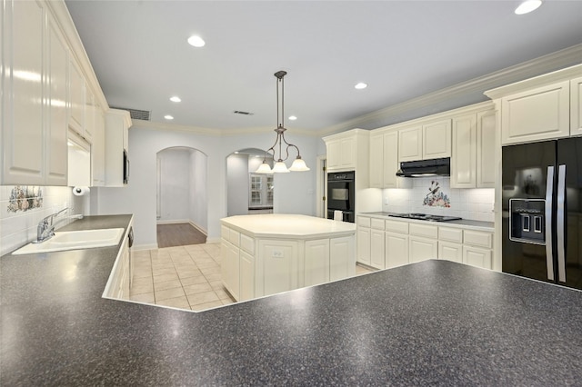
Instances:
[[[171,247],[206,243],[207,156],[174,146],[156,154],[157,244]]]

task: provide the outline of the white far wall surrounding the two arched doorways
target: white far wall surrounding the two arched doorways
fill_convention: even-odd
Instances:
[[[319,139],[294,134],[292,130],[287,137],[288,141],[301,149],[306,164],[315,168],[316,144]],[[129,157],[132,165],[129,184],[123,188],[96,190],[99,213],[133,213],[136,248],[156,248],[156,154],[168,147],[191,147],[207,156],[207,240],[218,241],[220,218],[226,216],[226,157],[240,149],[266,149],[274,140],[275,134],[272,131],[221,137],[182,130],[155,130],[136,122],[129,129]],[[313,170],[276,175],[274,211],[314,215],[315,186]]]

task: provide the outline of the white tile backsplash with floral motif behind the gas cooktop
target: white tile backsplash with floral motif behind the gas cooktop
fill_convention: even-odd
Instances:
[[[450,188],[449,177],[418,177],[412,188],[386,189],[382,210],[390,213],[429,213],[494,222],[493,188]]]

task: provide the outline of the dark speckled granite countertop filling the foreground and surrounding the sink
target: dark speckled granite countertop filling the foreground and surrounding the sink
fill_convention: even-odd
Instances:
[[[574,290],[433,260],[192,313],[101,298],[115,255],[0,259],[0,384],[582,381]]]

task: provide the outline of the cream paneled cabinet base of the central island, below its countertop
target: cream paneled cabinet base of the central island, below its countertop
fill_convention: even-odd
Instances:
[[[246,235],[221,226],[222,282],[236,301],[356,274],[355,236],[316,240]]]

